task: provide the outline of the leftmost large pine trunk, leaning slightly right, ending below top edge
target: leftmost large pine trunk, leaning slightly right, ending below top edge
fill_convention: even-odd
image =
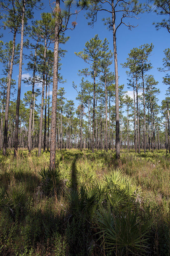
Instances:
[[[24,28],[24,25],[23,25]],[[8,131],[8,116],[9,116],[9,104],[10,104],[10,91],[11,91],[11,78],[12,78],[12,69],[15,55],[15,40],[16,40],[17,30],[14,31],[13,44],[12,44],[12,54],[11,54],[11,64],[9,79],[6,90],[6,106],[5,106],[5,123],[4,123],[4,142],[3,142],[3,155],[6,156],[6,147],[7,147],[7,131]]]

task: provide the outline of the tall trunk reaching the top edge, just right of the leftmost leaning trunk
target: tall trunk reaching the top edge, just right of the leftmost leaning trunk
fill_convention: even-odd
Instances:
[[[22,79],[24,18],[25,18],[25,0],[23,0],[22,20],[21,20],[21,44],[20,44],[20,58],[19,58],[18,95],[17,95],[16,116],[15,116],[14,157],[17,156],[17,151],[18,151],[18,123],[19,123],[19,105],[20,105],[21,79]]]

